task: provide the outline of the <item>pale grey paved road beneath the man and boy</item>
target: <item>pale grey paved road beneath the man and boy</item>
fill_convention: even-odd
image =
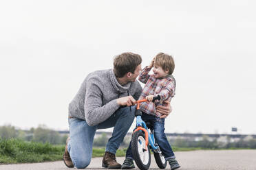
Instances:
[[[256,170],[256,150],[176,151],[180,170]],[[153,155],[152,155],[153,156]],[[122,163],[124,157],[118,157]],[[100,169],[102,158],[93,158],[87,169]],[[169,165],[167,167],[169,169]],[[67,170],[62,161],[21,165],[0,165],[0,170]],[[138,168],[136,168],[138,169]],[[151,160],[150,169],[158,169]]]

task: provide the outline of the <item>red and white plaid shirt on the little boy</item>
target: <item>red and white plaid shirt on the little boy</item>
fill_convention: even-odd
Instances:
[[[140,104],[140,110],[147,114],[161,117],[162,114],[156,112],[156,106],[163,106],[162,101],[171,101],[171,98],[175,95],[175,79],[173,75],[167,75],[166,77],[156,78],[154,75],[149,75],[151,69],[147,66],[141,71],[138,80],[145,84],[140,99],[145,99],[147,95],[160,95],[161,99],[153,102],[143,102]]]

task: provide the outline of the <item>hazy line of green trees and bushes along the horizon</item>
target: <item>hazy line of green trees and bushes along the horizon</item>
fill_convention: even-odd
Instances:
[[[19,138],[23,141],[35,141],[41,143],[51,143],[54,145],[65,144],[67,134],[59,134],[54,130],[50,130],[45,125],[31,128],[30,130],[18,130],[12,125],[0,126],[0,138]],[[107,134],[103,133],[97,138],[94,138],[94,147],[105,147],[108,141]],[[210,138],[203,136],[200,140],[195,138],[168,138],[173,147],[200,147],[202,149],[229,149],[229,148],[249,148],[256,149],[256,139],[250,136],[239,138],[233,141],[228,136],[222,138]],[[120,147],[128,147],[131,141],[131,136],[125,136]]]

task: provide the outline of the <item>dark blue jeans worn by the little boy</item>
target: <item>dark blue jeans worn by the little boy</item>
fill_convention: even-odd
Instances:
[[[161,119],[159,117],[155,117],[153,115],[142,112],[142,120],[145,122],[149,121],[153,126],[155,141],[156,143],[158,143],[165,160],[168,160],[169,158],[175,158],[173,149],[171,149],[171,145],[167,140],[167,136],[164,134],[165,119],[164,118]],[[133,158],[131,153],[131,143],[129,144],[129,147],[126,151],[126,158]]]

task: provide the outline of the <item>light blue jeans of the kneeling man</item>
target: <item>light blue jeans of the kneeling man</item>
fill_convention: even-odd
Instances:
[[[70,124],[70,142],[67,144],[72,162],[76,168],[85,168],[92,159],[92,144],[96,130],[114,127],[111,138],[105,151],[116,154],[116,150],[122,143],[131,124],[134,121],[135,106],[120,108],[114,112],[103,123],[95,126],[87,125],[85,120],[71,118]]]

